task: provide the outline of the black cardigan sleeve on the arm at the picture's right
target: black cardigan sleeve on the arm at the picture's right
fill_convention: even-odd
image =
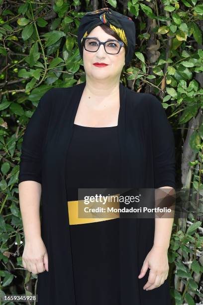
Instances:
[[[161,102],[155,96],[151,96],[154,187],[171,186],[175,188],[174,134]]]

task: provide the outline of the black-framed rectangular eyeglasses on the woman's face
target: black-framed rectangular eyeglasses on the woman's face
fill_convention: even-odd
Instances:
[[[108,39],[104,42],[94,37],[83,37],[82,43],[86,51],[97,52],[101,44],[104,46],[104,50],[108,54],[118,54],[121,47],[124,47],[124,42],[116,39]]]

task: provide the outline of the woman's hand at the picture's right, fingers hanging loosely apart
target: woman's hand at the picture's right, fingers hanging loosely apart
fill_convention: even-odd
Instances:
[[[168,249],[164,247],[153,246],[147,254],[142,269],[140,271],[139,279],[143,278],[148,268],[150,269],[147,283],[143,289],[152,290],[161,286],[168,277]]]

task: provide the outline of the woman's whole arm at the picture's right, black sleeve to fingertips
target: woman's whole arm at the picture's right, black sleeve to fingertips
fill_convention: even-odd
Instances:
[[[155,208],[168,207],[171,212],[156,213],[154,244],[147,254],[138,278],[150,269],[144,290],[161,286],[168,277],[168,248],[174,220],[175,139],[161,102],[150,96],[151,137],[153,149]],[[167,186],[166,186],[167,185]],[[165,190],[163,190],[165,189]],[[170,195],[168,196],[167,190]],[[171,197],[170,197],[171,196]]]

